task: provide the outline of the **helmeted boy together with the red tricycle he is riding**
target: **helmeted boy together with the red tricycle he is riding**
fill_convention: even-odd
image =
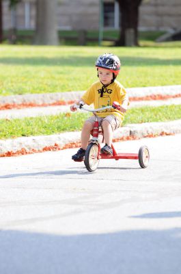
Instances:
[[[126,90],[115,79],[120,73],[120,59],[111,53],[100,55],[96,61],[99,81],[85,92],[81,100],[70,106],[70,110],[77,108],[93,112],[83,125],[81,132],[81,148],[72,155],[72,160],[83,161],[88,171],[95,171],[100,159],[139,159],[141,168],[148,166],[149,151],[141,147],[139,153],[117,153],[113,147],[113,131],[122,125],[124,114],[128,108]],[[83,105],[94,104],[94,110],[84,108]],[[89,140],[90,134],[93,138]],[[103,134],[105,146],[100,147],[98,135]]]

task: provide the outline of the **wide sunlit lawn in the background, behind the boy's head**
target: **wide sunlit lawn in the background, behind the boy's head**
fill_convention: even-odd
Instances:
[[[126,88],[180,84],[180,45],[181,42],[160,47],[1,45],[0,95],[86,90],[97,80],[96,58],[110,51],[120,57],[122,70],[117,79]]]

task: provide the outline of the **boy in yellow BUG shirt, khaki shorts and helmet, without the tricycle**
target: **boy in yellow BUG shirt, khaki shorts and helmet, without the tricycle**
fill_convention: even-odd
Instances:
[[[98,112],[98,122],[104,131],[105,146],[102,147],[101,153],[113,155],[111,143],[113,138],[113,131],[120,127],[124,119],[124,113],[128,108],[128,96],[126,90],[117,82],[115,78],[120,73],[120,59],[111,53],[100,55],[96,61],[96,68],[98,71],[99,81],[92,84],[85,92],[81,100],[76,102],[77,105],[94,104],[94,108],[102,108],[107,105],[112,105],[113,101],[120,104],[120,110],[107,109]],[[70,106],[71,111],[76,111],[74,105]],[[83,160],[85,149],[87,148],[90,132],[94,125],[94,116],[85,121],[81,132],[81,148],[76,154],[72,155],[72,160]]]

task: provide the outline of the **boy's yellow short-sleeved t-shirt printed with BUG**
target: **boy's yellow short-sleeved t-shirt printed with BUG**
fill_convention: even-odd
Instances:
[[[102,84],[100,83],[100,81],[92,84],[92,86],[90,86],[89,89],[82,96],[83,101],[87,105],[94,104],[94,108],[103,108],[107,105],[112,105],[113,101],[117,101],[120,105],[122,105],[122,102],[127,97],[126,90],[117,80],[107,86],[107,88],[104,88],[102,97],[100,97],[101,89]],[[117,117],[120,123],[122,123],[124,119],[124,113],[113,108],[102,110],[102,112],[97,112],[96,114],[100,117],[106,117],[110,114],[113,114]]]

